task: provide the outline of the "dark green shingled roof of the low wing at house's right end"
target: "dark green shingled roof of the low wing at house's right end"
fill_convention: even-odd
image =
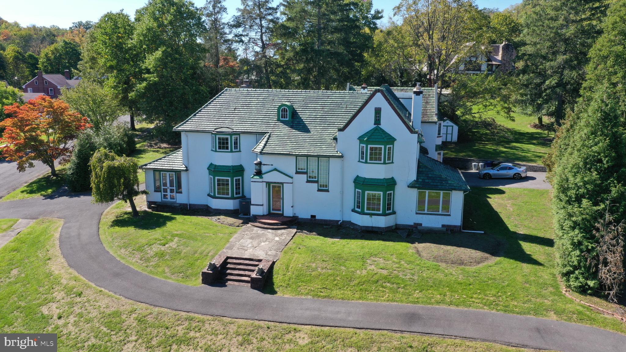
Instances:
[[[409,184],[409,187],[416,189],[469,190],[469,186],[459,170],[426,155],[419,155],[418,177]]]

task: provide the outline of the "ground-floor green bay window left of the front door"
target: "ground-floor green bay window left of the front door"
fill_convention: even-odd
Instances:
[[[213,199],[245,198],[244,167],[242,165],[215,165],[208,170],[208,197]]]

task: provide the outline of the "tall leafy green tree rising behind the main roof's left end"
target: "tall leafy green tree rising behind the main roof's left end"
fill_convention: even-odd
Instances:
[[[208,100],[202,80],[205,50],[198,38],[206,32],[191,1],[151,0],[135,16],[133,45],[143,61],[134,98],[156,133],[168,140],[172,128]]]

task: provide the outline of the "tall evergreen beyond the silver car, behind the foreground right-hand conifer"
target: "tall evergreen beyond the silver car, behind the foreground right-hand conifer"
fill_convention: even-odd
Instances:
[[[603,0],[536,0],[522,16],[518,49],[521,102],[558,126],[572,111],[585,78],[587,54],[602,33]]]

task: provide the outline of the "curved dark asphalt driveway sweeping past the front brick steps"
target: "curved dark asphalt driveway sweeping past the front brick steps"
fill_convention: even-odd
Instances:
[[[567,352],[623,352],[626,336],[562,321],[512,314],[411,304],[271,296],[242,286],[185,286],[126,266],[100,242],[106,205],[88,195],[0,203],[0,217],[65,219],[59,246],[78,274],[134,301],[177,311],[289,324],[383,329],[456,336]]]

